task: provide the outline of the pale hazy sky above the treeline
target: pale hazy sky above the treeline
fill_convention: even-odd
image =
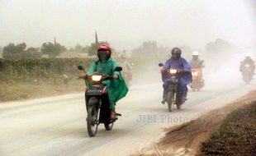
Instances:
[[[143,41],[202,47],[216,38],[256,42],[256,0],[0,0],[0,46],[100,40],[116,48]]]

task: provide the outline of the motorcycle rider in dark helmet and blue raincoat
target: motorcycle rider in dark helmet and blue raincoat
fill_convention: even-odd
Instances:
[[[178,75],[178,91],[182,92],[182,104],[185,103],[187,99],[187,85],[192,82],[192,73],[190,64],[181,57],[182,50],[180,48],[172,49],[172,57],[170,57],[165,63],[162,70],[162,80],[164,81],[164,94],[163,101],[164,104],[167,102],[168,96],[168,85],[169,85],[169,74],[168,72],[163,72],[168,69],[177,69],[185,71]]]

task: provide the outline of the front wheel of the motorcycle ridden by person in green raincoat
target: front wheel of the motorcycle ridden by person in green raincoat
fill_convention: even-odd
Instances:
[[[87,117],[87,130],[90,137],[93,137],[97,134],[97,126],[97,108],[92,105],[88,108]]]

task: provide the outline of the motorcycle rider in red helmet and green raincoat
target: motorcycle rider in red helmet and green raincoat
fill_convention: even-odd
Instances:
[[[108,87],[111,119],[114,119],[116,102],[126,96],[128,88],[125,80],[121,76],[121,72],[114,71],[114,69],[118,67],[118,64],[111,58],[111,47],[106,44],[100,45],[97,48],[97,57],[98,60],[92,62],[92,66],[89,68],[87,75],[91,76],[93,72],[100,72],[106,76],[113,76],[113,80],[104,80],[102,84]],[[79,77],[84,78],[86,76],[80,75]],[[85,79],[85,83],[88,84],[90,82]]]

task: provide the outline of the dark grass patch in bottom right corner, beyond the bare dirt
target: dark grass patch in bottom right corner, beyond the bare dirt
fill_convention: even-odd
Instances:
[[[198,155],[256,155],[256,102],[231,112]]]

